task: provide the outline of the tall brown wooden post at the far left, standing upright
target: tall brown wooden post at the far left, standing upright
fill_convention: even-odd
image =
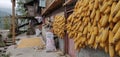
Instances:
[[[12,40],[15,44],[15,0],[12,0]]]

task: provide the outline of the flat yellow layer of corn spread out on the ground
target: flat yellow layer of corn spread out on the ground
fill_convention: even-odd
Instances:
[[[23,38],[17,45],[17,48],[38,47],[44,48],[45,43],[42,38]]]

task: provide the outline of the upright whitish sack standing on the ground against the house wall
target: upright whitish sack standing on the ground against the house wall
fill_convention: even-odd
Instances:
[[[56,51],[52,26],[46,32],[46,51]]]

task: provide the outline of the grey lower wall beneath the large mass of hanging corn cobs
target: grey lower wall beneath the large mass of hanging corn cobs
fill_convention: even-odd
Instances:
[[[77,57],[110,57],[108,53],[105,53],[104,50],[92,49],[92,48],[82,48],[77,52]],[[119,57],[119,56],[115,56]]]

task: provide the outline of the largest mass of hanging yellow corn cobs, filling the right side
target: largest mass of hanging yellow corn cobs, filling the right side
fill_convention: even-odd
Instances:
[[[89,46],[120,56],[120,0],[79,0],[66,29],[75,49]]]

